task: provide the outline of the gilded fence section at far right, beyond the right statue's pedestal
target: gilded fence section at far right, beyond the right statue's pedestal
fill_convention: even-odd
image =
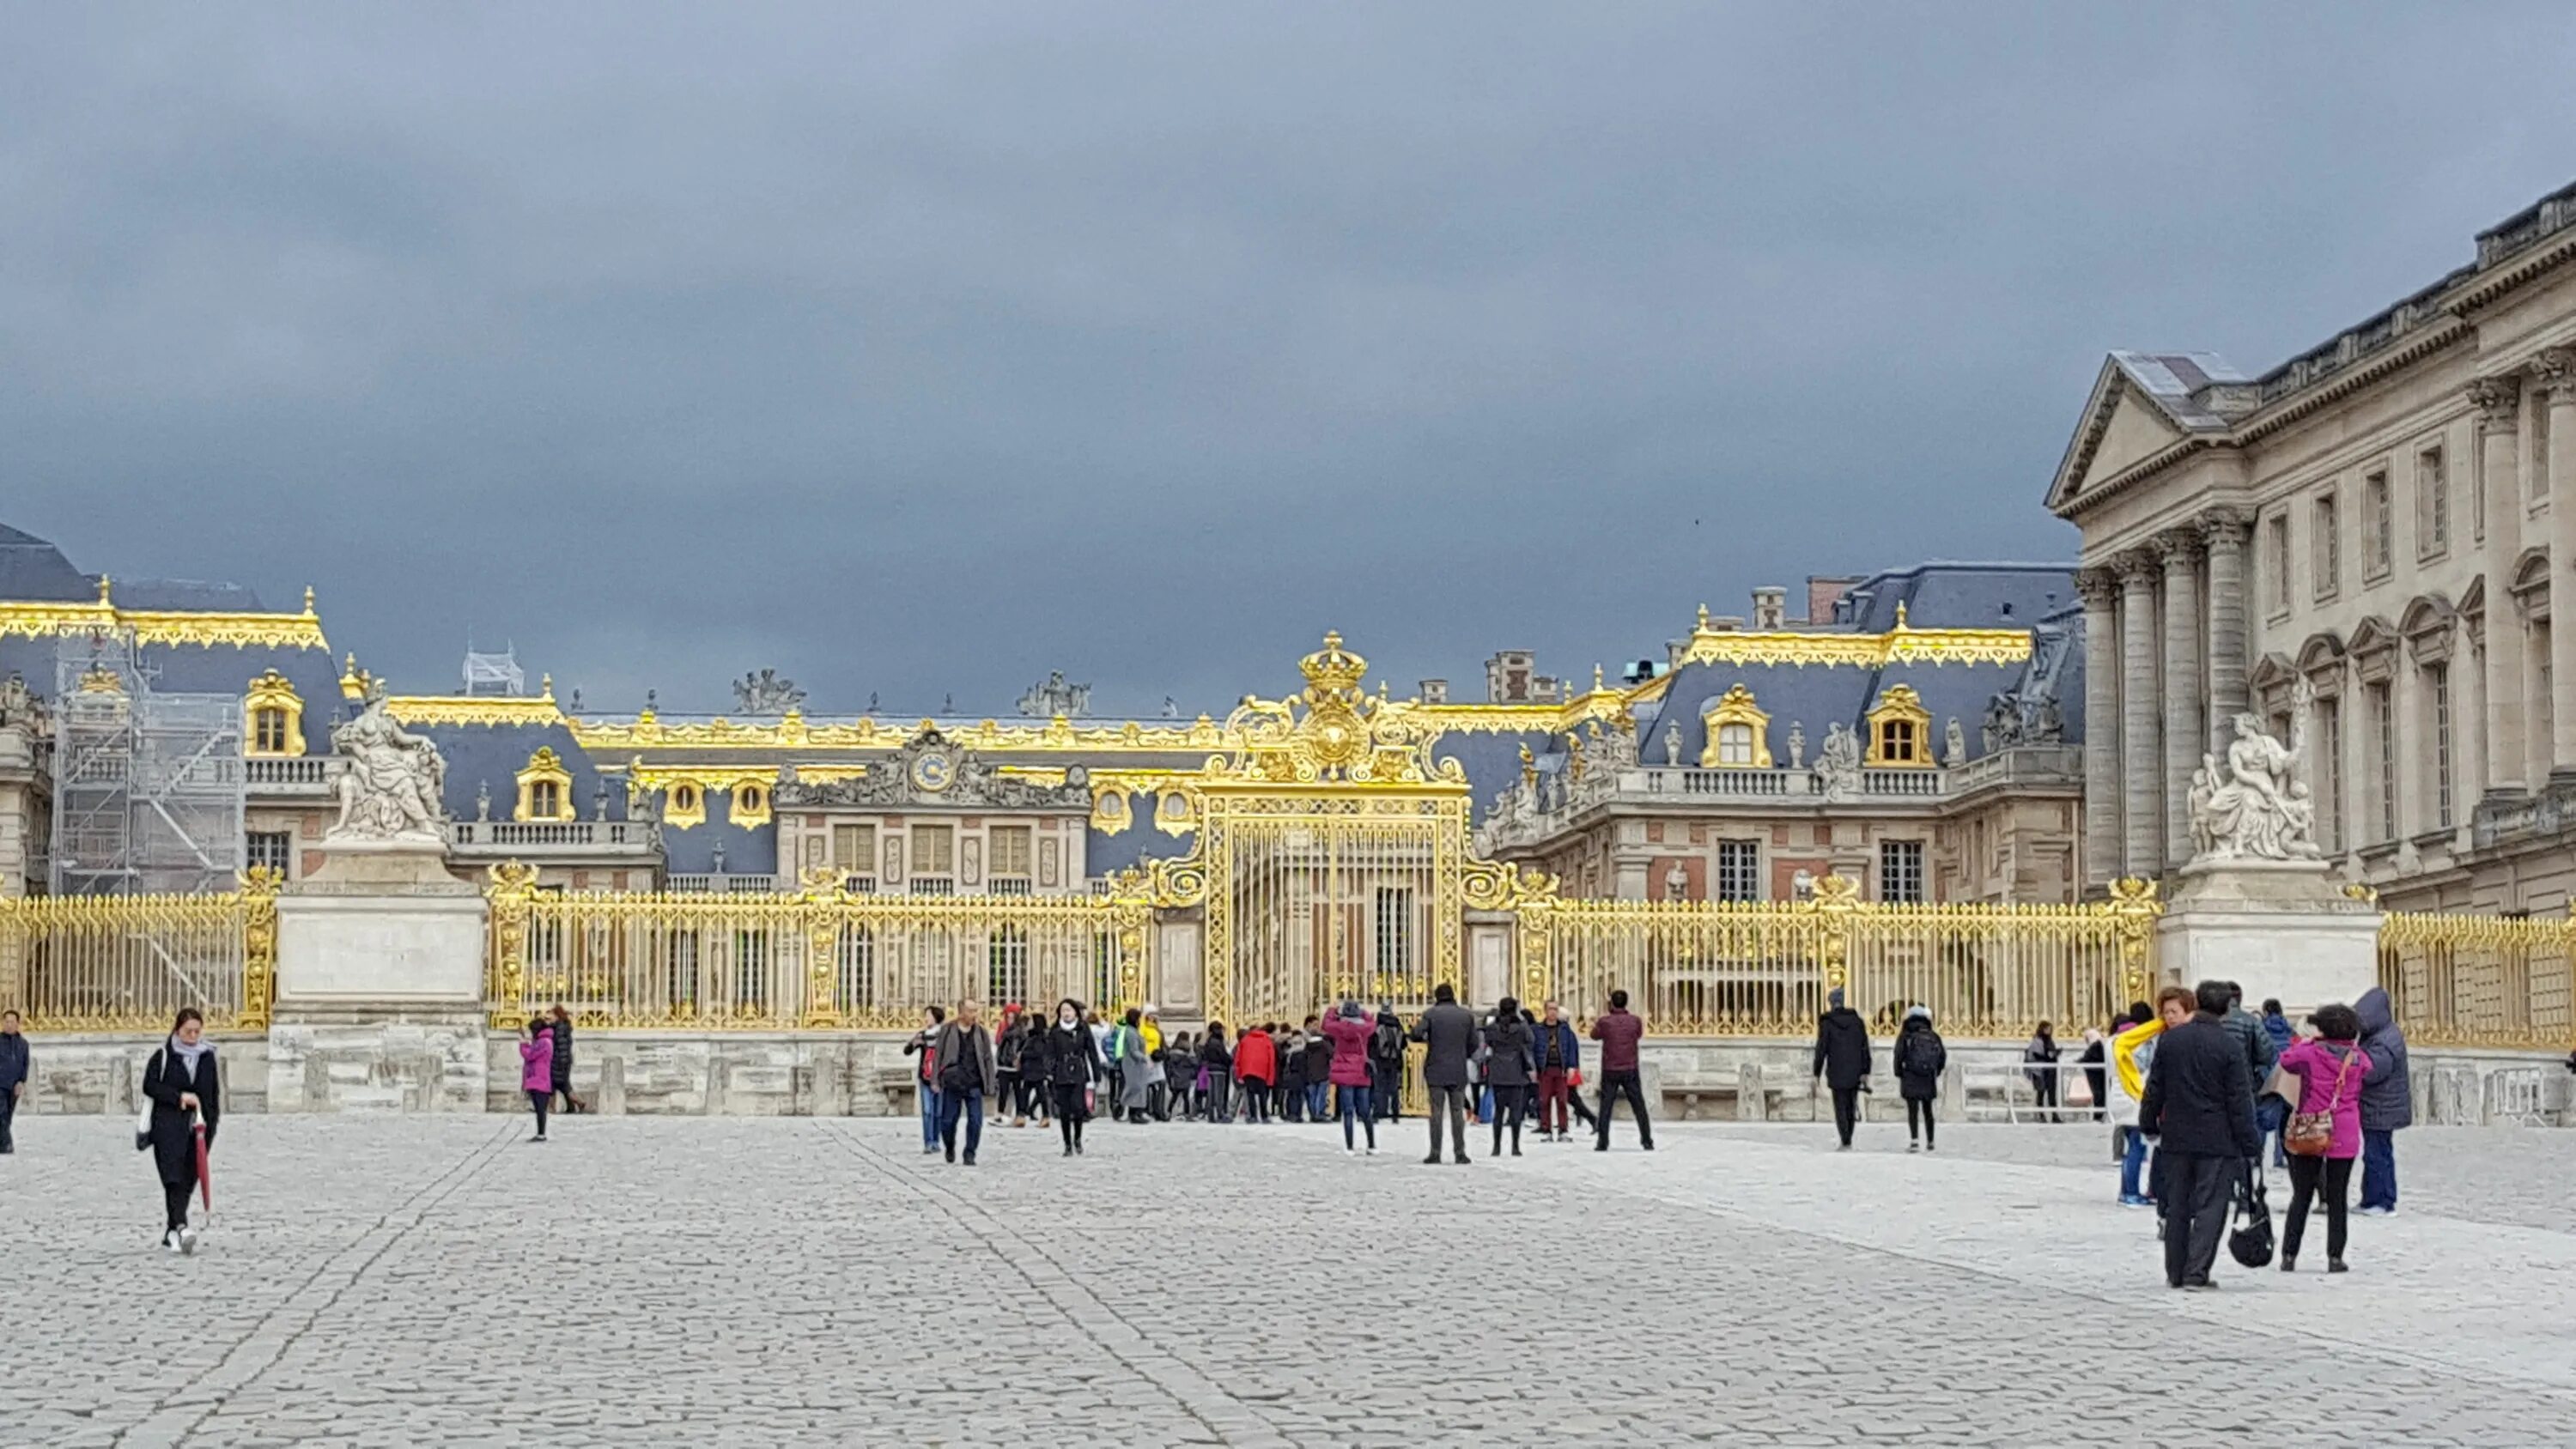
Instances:
[[[2409,1042],[2563,1050],[2576,1045],[2576,921],[2391,911],[2380,986]]]

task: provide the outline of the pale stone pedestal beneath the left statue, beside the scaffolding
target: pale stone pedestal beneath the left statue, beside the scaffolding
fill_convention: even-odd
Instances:
[[[322,849],[278,896],[270,1112],[482,1112],[482,893],[438,839]]]

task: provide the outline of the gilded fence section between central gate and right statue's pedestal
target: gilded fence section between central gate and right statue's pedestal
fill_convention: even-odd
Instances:
[[[2099,906],[1886,906],[1847,878],[1808,901],[1540,901],[1522,991],[1587,1019],[1625,988],[1659,1035],[1798,1037],[1839,986],[1883,1032],[1922,1004],[1950,1037],[2012,1040],[2143,999],[2159,914],[2143,880]]]

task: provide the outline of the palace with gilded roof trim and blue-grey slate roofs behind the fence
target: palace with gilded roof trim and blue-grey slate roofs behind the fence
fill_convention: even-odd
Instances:
[[[1788,901],[1842,872],[1886,901],[2066,901],[2079,865],[2081,618],[2061,566],[1932,564],[1754,597],[1662,661],[1486,664],[1486,700],[1383,700],[1455,762],[1492,860],[1566,896]],[[1337,646],[1306,661],[1365,669]],[[471,674],[471,672],[469,672]],[[492,677],[492,672],[484,672]],[[500,677],[507,677],[502,672]],[[332,726],[381,685],[314,600],[118,582],[0,530],[0,891],[286,883],[335,824]],[[1249,682],[1260,682],[1257,677]],[[737,718],[598,715],[551,677],[386,695],[438,746],[448,865],[546,891],[1079,896],[1188,854],[1211,757],[1257,721],[1090,718],[1061,677],[1023,715],[809,715],[783,679]],[[1388,888],[1399,891],[1399,888]],[[1386,896],[1404,916],[1404,896]],[[1404,952],[1401,921],[1370,927]]]

